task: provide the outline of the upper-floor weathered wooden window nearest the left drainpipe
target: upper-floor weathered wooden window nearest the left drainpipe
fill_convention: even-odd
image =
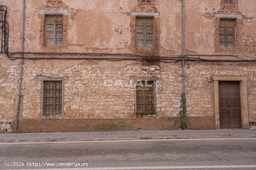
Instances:
[[[63,44],[63,16],[46,16],[45,44]]]

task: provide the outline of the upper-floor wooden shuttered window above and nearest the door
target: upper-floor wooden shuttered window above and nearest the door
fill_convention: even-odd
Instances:
[[[235,19],[220,19],[220,47],[235,48]]]

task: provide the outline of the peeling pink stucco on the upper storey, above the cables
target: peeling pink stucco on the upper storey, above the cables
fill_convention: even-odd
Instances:
[[[256,22],[256,5],[253,0],[239,0],[237,7],[224,10],[223,0],[185,0],[185,35],[187,52],[198,54],[214,54],[215,42],[215,13],[240,13],[243,15],[242,41],[252,38],[255,41],[253,27]],[[8,6],[8,18],[10,23],[10,50],[20,50],[20,20],[21,4],[19,0],[4,0]],[[180,0],[152,0],[153,6],[138,6],[138,0],[27,0],[26,1],[26,25],[25,25],[25,49],[27,51],[45,52],[52,51],[48,47],[40,47],[43,30],[38,29],[34,23],[44,24],[40,10],[69,10],[67,14],[67,47],[54,50],[63,52],[115,52],[132,53],[129,48],[132,44],[132,32],[130,28],[131,11],[160,13],[160,46],[169,54],[181,53],[181,2]],[[152,8],[152,9],[151,9]],[[236,9],[235,9],[236,8]],[[147,10],[148,9],[148,10]],[[151,11],[150,11],[151,10]],[[66,14],[65,14],[66,15]],[[20,17],[17,17],[20,16]],[[237,32],[240,34],[240,32]],[[251,42],[254,46],[255,43]],[[249,44],[248,44],[249,45]],[[162,53],[166,51],[161,50]],[[232,52],[255,52],[255,50]],[[161,55],[161,53],[160,53]]]

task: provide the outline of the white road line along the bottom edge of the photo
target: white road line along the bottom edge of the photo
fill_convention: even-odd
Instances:
[[[172,169],[220,169],[220,168],[256,168],[256,165],[220,165],[220,166],[149,166],[149,167],[108,167],[108,168],[61,168],[60,170],[172,170]],[[26,170],[26,169],[23,169]],[[28,170],[28,169],[27,169]],[[38,170],[38,169],[29,169]],[[56,170],[56,169],[40,169]],[[57,169],[58,170],[58,169]]]

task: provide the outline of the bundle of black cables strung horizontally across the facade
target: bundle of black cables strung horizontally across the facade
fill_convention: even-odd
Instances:
[[[20,59],[20,55],[37,55],[37,56],[80,56],[80,57],[23,57],[28,60],[107,60],[107,61],[122,61],[122,60],[134,60],[134,61],[158,61],[165,63],[181,62],[182,56],[144,56],[136,54],[125,53],[66,53],[66,52],[9,52],[8,39],[9,39],[9,24],[6,20],[7,6],[0,6],[0,22],[2,24],[1,35],[1,53],[7,55],[11,60]],[[89,56],[89,57],[87,57]],[[92,57],[94,56],[94,57]],[[104,58],[111,56],[111,58]],[[114,56],[114,57],[113,57]],[[201,57],[236,57],[241,60],[224,60],[224,59],[206,59]],[[243,57],[252,57],[254,59],[248,60]],[[185,61],[194,62],[211,62],[211,63],[253,63],[256,62],[255,56],[236,56],[236,55],[185,55]]]

